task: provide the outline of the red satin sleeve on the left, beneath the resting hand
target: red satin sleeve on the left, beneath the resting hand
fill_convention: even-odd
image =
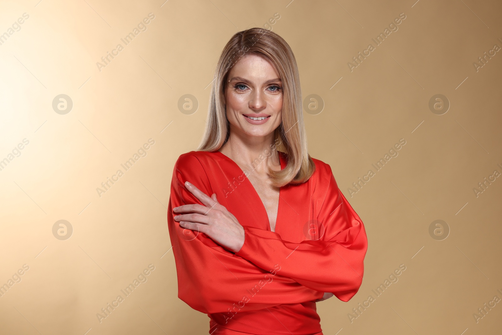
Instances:
[[[216,178],[211,171],[207,173]],[[188,180],[210,196],[215,192],[207,173],[199,159],[190,153],[180,156],[173,171],[167,219],[178,277],[178,297],[203,313],[228,312],[235,304],[239,311],[252,311],[320,298],[322,292],[284,276],[281,264],[273,264],[272,259],[258,267],[235,256],[207,235],[180,227],[174,220],[177,214],[172,208],[201,204],[184,183]]]

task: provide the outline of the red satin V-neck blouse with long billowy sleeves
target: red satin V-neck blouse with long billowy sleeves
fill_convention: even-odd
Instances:
[[[283,169],[287,155],[279,156]],[[313,161],[307,182],[280,188],[272,232],[260,196],[233,160],[219,151],[178,158],[167,215],[178,297],[210,317],[210,334],[322,334],[313,300],[331,292],[348,301],[359,289],[364,226],[330,166]],[[173,207],[201,204],[187,180],[209,196],[216,193],[242,225],[245,240],[237,253],[174,220]]]

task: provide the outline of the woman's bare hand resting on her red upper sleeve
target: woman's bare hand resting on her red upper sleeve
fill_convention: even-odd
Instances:
[[[173,212],[181,215],[174,219],[181,227],[204,233],[231,252],[238,252],[244,245],[244,228],[237,218],[218,202],[215,193],[209,197],[188,181],[185,186],[204,205],[194,203],[175,207]]]

